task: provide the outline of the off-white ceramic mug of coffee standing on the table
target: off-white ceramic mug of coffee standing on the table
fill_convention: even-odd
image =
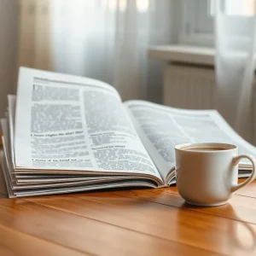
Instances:
[[[197,206],[225,204],[237,189],[255,178],[255,160],[238,155],[235,145],[224,143],[188,143],[175,147],[177,190],[185,201]],[[237,184],[238,163],[246,158],[253,164],[250,177]]]

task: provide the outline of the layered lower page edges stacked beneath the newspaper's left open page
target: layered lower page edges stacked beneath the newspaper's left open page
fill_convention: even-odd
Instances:
[[[137,183],[141,183],[144,186],[149,186],[149,187],[156,187],[156,184],[152,181],[152,178],[150,177],[143,177],[139,178],[137,176],[131,176],[131,175],[60,175],[60,174],[51,174],[45,175],[27,175],[24,173],[21,173],[22,178],[19,174],[15,174],[11,172],[12,167],[11,164],[9,163],[10,157],[9,157],[9,143],[6,143],[6,138],[8,137],[8,125],[7,125],[7,119],[1,119],[1,128],[3,131],[3,157],[2,157],[2,170],[0,167],[0,183],[1,183],[1,175],[3,175],[7,189],[9,191],[9,196],[14,197],[15,195],[24,195],[24,191],[29,189],[30,192],[33,191],[33,193],[39,193],[40,191],[47,191],[49,189],[54,189],[55,188],[69,188],[69,189],[74,189],[75,187],[88,187],[91,185],[95,185],[97,188],[99,188],[99,184],[104,184],[104,183],[120,183],[122,184],[124,181],[128,184],[131,183],[131,181],[137,181]],[[33,178],[33,177],[34,178]],[[47,178],[48,177],[48,178]],[[104,185],[103,185],[104,187]],[[84,189],[84,188],[80,188]],[[56,190],[55,190],[56,191]],[[67,189],[65,190],[67,191]],[[28,191],[27,191],[28,192]],[[27,193],[26,192],[26,193]],[[30,195],[30,193],[28,193]]]

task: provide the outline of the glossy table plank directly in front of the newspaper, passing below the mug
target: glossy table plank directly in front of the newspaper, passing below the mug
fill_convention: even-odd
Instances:
[[[139,191],[143,192],[142,194],[145,192]],[[151,191],[154,193],[156,190],[151,189]],[[130,196],[133,192],[123,191],[122,193]],[[211,248],[210,250],[215,253],[229,254],[230,250],[233,250],[233,255],[241,255],[244,247],[251,249],[248,255],[256,253],[253,243],[256,239],[256,225],[254,224],[190,211],[184,206],[178,209],[170,205],[133,199],[114,193],[58,196],[55,200],[49,197],[29,200],[86,218],[137,230],[161,239],[205,250]],[[172,194],[166,193],[166,196],[173,198]],[[177,204],[177,201],[174,201],[174,204]],[[230,211],[232,211],[231,208]],[[202,234],[207,234],[207,236]],[[243,237],[246,239],[238,243],[237,241]]]

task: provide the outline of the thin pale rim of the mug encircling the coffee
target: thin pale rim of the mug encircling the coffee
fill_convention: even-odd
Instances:
[[[221,150],[187,150],[186,148],[189,147],[206,147],[206,148],[224,148]],[[226,152],[226,151],[230,151],[233,149],[238,148],[236,145],[234,144],[229,144],[229,143],[182,143],[182,144],[178,144],[174,147],[177,150],[183,151],[183,152],[200,152],[200,153],[217,153],[217,152]]]

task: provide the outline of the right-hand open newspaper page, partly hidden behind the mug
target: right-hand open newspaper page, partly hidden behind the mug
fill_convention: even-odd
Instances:
[[[230,143],[239,148],[239,154],[256,156],[256,148],[237,135],[216,110],[184,110],[143,101],[125,102],[125,107],[165,180],[175,166],[177,144]],[[250,162],[241,160],[241,167],[250,169]]]

